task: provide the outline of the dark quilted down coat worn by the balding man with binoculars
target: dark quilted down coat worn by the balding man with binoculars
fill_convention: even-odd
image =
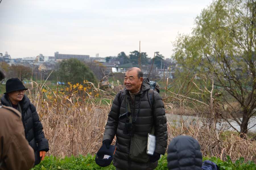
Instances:
[[[121,91],[117,93],[112,103],[111,110],[108,114],[108,121],[105,127],[103,141],[106,139],[112,141],[116,135],[117,147],[113,158],[113,165],[115,167],[125,170],[151,170],[155,169],[158,164],[158,161],[139,163],[130,160],[129,149],[131,137],[129,136],[129,134],[123,134],[125,119],[119,120],[119,116],[126,112],[125,97],[128,97],[129,99],[131,117],[133,120],[135,120],[137,110],[139,109],[140,96],[144,93],[143,97],[141,98],[140,110],[135,126],[135,134],[147,137],[148,133],[151,133],[154,123],[154,134],[156,135],[155,152],[163,155],[166,152],[168,134],[164,103],[162,101],[162,97],[158,94],[158,92],[154,91],[154,105],[152,110],[149,104],[150,101],[148,101],[147,97],[148,89],[150,89],[148,78],[143,77],[141,90],[139,94],[135,96],[134,103],[132,103],[131,96],[129,95],[129,91],[127,89],[124,90],[121,105],[119,101]]]

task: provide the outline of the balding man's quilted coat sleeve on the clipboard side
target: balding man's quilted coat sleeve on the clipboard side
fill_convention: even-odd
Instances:
[[[167,120],[165,116],[164,103],[158,92],[154,91],[154,125],[156,135],[155,152],[164,155],[167,147]]]

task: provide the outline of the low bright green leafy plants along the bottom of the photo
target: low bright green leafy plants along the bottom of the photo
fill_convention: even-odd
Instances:
[[[167,168],[167,154],[162,156],[158,162],[158,166],[156,170],[168,170]],[[81,154],[77,157],[71,155],[71,157],[56,157],[56,156],[46,156],[44,161],[41,161],[39,165],[36,165],[31,170],[51,170],[51,169],[83,169],[83,170],[115,170],[115,167],[111,163],[108,167],[100,167],[95,163],[95,155],[92,156],[87,154],[86,156],[82,156]],[[240,158],[236,160],[234,163],[228,157],[226,162],[223,162],[219,158],[211,157],[204,158],[203,160],[211,160],[216,163],[221,170],[255,170],[256,165],[252,161],[244,162],[244,158]]]

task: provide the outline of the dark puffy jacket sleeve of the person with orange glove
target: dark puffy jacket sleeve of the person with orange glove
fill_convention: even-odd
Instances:
[[[30,109],[33,116],[34,137],[38,145],[38,150],[47,152],[49,150],[48,140],[44,136],[43,126],[36,112],[36,107],[32,103],[30,103]]]

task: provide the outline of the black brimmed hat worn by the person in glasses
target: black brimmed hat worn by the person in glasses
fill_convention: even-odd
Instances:
[[[18,78],[10,78],[7,80],[5,84],[6,92],[4,94],[8,94],[15,90],[28,90],[28,88],[25,88],[22,81],[20,81]]]

